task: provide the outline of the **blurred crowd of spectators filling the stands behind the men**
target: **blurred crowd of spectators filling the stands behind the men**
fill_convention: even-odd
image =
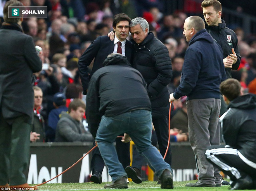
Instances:
[[[149,31],[161,40],[169,50],[173,78],[168,85],[170,93],[180,83],[184,55],[188,43],[183,36],[183,23],[189,15],[203,18],[201,0],[20,0],[24,6],[47,6],[47,19],[24,19],[24,33],[33,37],[35,45],[42,47],[40,59],[42,71],[35,74],[38,95],[35,95],[35,132],[40,139],[31,141],[55,141],[59,115],[67,111],[69,103],[82,95],[78,74],[78,60],[98,36],[112,31],[113,16],[126,13],[131,19],[144,17]],[[3,22],[3,5],[0,0],[0,26]],[[256,94],[256,6],[255,0],[220,0],[227,27],[238,38],[240,67],[232,71],[232,77],[240,81],[243,93]],[[250,5],[250,6],[248,6]],[[131,38],[131,37],[128,37]],[[92,62],[93,64],[93,62]],[[91,65],[92,65],[91,64]],[[90,67],[92,68],[92,66]],[[41,94],[41,92],[42,94]],[[166,100],[168,101],[168,100]],[[188,122],[186,97],[176,100],[171,113],[173,141],[187,141]],[[83,120],[85,130],[87,123]],[[89,140],[88,140],[89,141]]]

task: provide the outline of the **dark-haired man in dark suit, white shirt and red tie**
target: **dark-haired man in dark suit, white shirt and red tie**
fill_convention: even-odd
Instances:
[[[110,53],[121,53],[131,63],[133,57],[133,45],[130,41],[126,40],[129,34],[129,24],[131,22],[128,15],[121,13],[114,16],[113,30],[115,31],[114,41],[111,41],[108,36],[100,36],[92,42],[86,49],[78,62],[80,78],[83,85],[83,94],[86,95],[88,83],[92,74],[103,67],[103,62]],[[88,74],[88,66],[92,60],[93,67],[90,74]],[[95,120],[100,121],[100,120]],[[99,124],[97,124],[99,126]],[[93,134],[93,132],[92,132]],[[95,143],[93,143],[95,146]],[[116,139],[116,149],[119,161],[125,168],[130,164],[130,144],[121,142],[121,138]],[[91,160],[92,177],[90,181],[94,183],[101,183],[101,173],[104,168],[104,160],[100,155],[98,148],[93,150]]]

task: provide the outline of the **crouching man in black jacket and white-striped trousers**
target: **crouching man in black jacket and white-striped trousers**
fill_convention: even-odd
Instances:
[[[225,146],[213,145],[206,151],[210,162],[232,181],[231,190],[256,188],[256,95],[240,96],[236,79],[220,84],[228,111],[220,117]]]

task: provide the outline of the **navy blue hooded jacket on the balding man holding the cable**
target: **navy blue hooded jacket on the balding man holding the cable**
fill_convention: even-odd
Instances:
[[[226,79],[223,52],[206,29],[190,40],[185,53],[181,83],[173,94],[175,99],[187,95],[191,99],[220,99],[220,83]]]

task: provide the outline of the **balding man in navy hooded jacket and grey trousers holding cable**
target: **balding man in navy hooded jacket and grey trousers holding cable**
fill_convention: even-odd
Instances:
[[[187,95],[189,141],[197,158],[198,182],[190,187],[221,186],[221,175],[204,157],[206,148],[220,145],[220,83],[226,78],[223,52],[198,16],[185,20],[183,34],[189,42],[182,68],[181,83],[169,102]]]

